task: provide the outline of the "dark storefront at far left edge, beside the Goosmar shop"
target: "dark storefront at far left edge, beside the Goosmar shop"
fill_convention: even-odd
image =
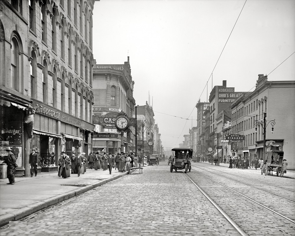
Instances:
[[[15,176],[25,175],[25,165],[28,160],[28,140],[32,137],[31,116],[33,113],[31,102],[16,95],[1,91],[1,146],[0,162],[7,155],[5,147],[11,147],[17,158]],[[32,120],[33,121],[33,120]]]

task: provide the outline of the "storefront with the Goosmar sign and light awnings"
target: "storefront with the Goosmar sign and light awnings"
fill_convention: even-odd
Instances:
[[[40,156],[38,168],[42,172],[58,171],[61,151],[66,151],[69,156],[73,151],[85,152],[85,156],[88,156],[92,150],[90,134],[94,129],[93,124],[35,100],[32,106],[35,122],[30,149],[36,148]]]

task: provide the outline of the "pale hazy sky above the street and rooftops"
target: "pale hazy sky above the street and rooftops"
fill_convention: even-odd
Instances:
[[[130,57],[136,104],[153,106],[171,150],[196,126],[196,103],[212,86],[254,91],[258,74],[295,80],[295,1],[95,1],[93,42],[97,64]]]

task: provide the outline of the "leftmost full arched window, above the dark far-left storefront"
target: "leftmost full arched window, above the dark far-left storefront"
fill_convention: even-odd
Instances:
[[[16,37],[11,40],[11,88],[19,91],[19,42]]]

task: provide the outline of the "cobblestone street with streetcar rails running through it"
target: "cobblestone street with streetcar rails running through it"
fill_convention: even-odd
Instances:
[[[238,172],[201,163],[192,165],[196,170],[198,166],[218,169],[215,172],[223,175]],[[230,193],[193,169],[187,174],[181,171],[171,173],[169,167],[163,162],[145,167],[143,174],[124,176],[22,221],[11,222],[1,228],[0,235],[240,235],[187,175],[206,190],[248,235],[265,235],[262,232],[268,230],[268,235],[278,235],[279,232],[294,235],[293,223]],[[206,171],[203,173],[209,175]],[[254,179],[253,173],[261,176],[258,171],[250,173],[245,170],[238,173],[239,179],[242,176]],[[217,179],[212,173],[210,177]],[[286,188],[294,186],[294,179],[276,177],[275,181],[277,185],[284,183]],[[251,184],[251,181],[247,182]],[[249,192],[257,201],[272,201],[267,194],[261,196],[260,190],[230,180],[223,184],[243,190],[244,194]],[[294,195],[290,197],[294,201]],[[277,198],[273,199],[274,205],[286,205]],[[288,217],[294,219],[294,213],[291,213],[294,204],[291,208]]]

